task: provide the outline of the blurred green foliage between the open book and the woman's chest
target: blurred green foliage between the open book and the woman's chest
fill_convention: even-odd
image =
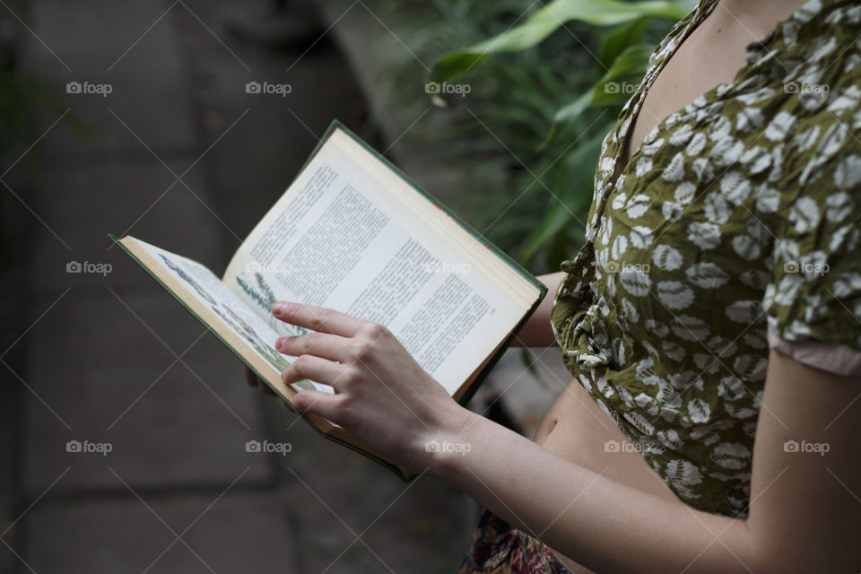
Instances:
[[[431,94],[445,108],[425,135],[466,174],[470,191],[453,207],[544,273],[583,239],[600,144],[631,96],[618,86],[639,83],[657,42],[695,4],[380,0],[409,48],[382,57],[398,102],[416,100],[416,83],[468,86]]]

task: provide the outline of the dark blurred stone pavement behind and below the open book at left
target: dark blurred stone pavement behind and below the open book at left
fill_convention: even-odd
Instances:
[[[452,572],[469,544],[474,503],[401,483],[248,389],[230,352],[111,247],[109,232],[133,233],[220,273],[333,117],[373,138],[327,39],[273,52],[224,32],[253,5],[36,0],[21,14],[24,69],[55,105],[35,118],[37,182],[0,189],[31,231],[22,328],[4,340],[22,411],[0,412],[21,427],[0,445],[14,501],[0,508],[3,571]],[[250,81],[292,91],[249,94]],[[522,372],[509,353],[489,387]],[[524,393],[530,413],[554,379]],[[247,452],[252,439],[291,452]]]

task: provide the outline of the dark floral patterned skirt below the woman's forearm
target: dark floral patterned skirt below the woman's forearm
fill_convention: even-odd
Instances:
[[[484,510],[459,574],[571,574],[550,548]]]

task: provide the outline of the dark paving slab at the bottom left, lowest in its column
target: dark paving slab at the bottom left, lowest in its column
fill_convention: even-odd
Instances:
[[[40,574],[140,574],[147,568],[165,574],[301,571],[294,566],[296,548],[283,501],[274,494],[229,491],[218,499],[218,491],[168,497],[144,493],[143,502],[127,494],[120,500],[39,502],[26,519],[27,561],[32,570]],[[174,533],[182,541],[174,544]]]

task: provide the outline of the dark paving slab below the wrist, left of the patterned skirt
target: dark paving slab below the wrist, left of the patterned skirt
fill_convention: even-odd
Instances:
[[[471,499],[426,476],[404,483],[275,403],[265,403],[267,436],[291,445],[273,462],[284,496],[301,500],[291,514],[303,571],[457,571],[475,524]]]

